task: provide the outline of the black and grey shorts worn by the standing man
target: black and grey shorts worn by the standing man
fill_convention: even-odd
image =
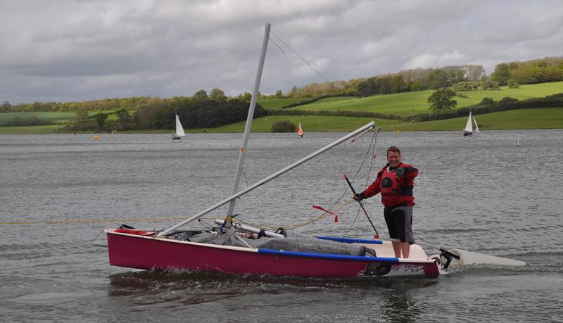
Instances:
[[[412,206],[384,208],[385,222],[391,241],[415,243],[412,234]]]

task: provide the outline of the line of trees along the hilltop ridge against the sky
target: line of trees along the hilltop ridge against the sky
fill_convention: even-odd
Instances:
[[[303,87],[293,86],[284,94],[277,90],[275,94],[258,93],[258,99],[300,98],[317,96],[371,96],[375,94],[391,94],[406,91],[422,91],[426,89],[444,89],[455,87],[456,91],[477,89],[479,87],[494,89],[498,86],[510,85],[514,80],[517,84],[535,84],[563,80],[563,58],[546,57],[524,62],[500,63],[495,71],[487,76],[481,65],[445,66],[443,68],[416,68],[402,70],[387,75],[376,75],[348,81],[337,80],[324,83],[310,83]],[[459,84],[459,85],[458,85]],[[77,112],[84,118],[89,111],[106,110],[138,110],[154,104],[167,104],[177,99],[196,99],[226,102],[230,100],[251,101],[252,95],[244,92],[237,96],[226,96],[221,89],[212,89],[208,94],[205,90],[196,91],[191,97],[175,96],[172,99],[161,99],[158,96],[139,96],[127,98],[102,99],[84,102],[34,102],[12,105],[4,101],[0,105],[3,112]]]

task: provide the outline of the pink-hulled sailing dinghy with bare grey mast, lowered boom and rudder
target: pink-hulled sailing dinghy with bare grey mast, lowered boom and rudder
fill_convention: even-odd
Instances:
[[[463,263],[463,252],[457,249],[441,249],[441,254],[429,257],[420,246],[413,244],[410,248],[410,258],[403,259],[394,257],[391,241],[330,236],[290,237],[281,228],[279,232],[270,232],[233,221],[236,216],[233,215],[234,203],[239,196],[270,182],[348,139],[362,137],[375,127],[375,122],[369,122],[239,191],[242,165],[269,35],[270,24],[267,24],[242,145],[239,148],[239,163],[232,196],[224,198],[173,227],[134,229],[122,225],[118,229],[106,229],[106,247],[110,265],[142,270],[198,270],[229,274],[346,278],[436,276],[443,273],[443,270],[454,262]],[[229,203],[227,217],[224,220],[215,220],[216,224],[220,224],[217,227],[181,228],[227,203]],[[481,261],[479,254],[469,253],[469,256],[469,263]],[[488,257],[487,261],[502,265],[524,264],[517,260],[486,257]]]

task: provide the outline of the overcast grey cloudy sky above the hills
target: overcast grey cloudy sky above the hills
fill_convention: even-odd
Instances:
[[[328,80],[563,56],[562,0],[0,0],[0,101],[251,92],[266,23]],[[263,94],[324,82],[272,40]]]

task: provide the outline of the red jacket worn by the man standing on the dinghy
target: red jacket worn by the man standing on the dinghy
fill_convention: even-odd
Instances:
[[[396,178],[398,169],[403,170],[403,174]],[[381,193],[381,203],[388,208],[399,204],[415,205],[415,197],[412,196],[412,188],[415,186],[415,177],[418,170],[412,165],[400,163],[398,167],[390,170],[389,164],[377,172],[377,178],[373,184],[369,185],[362,192],[364,198],[372,197]]]

